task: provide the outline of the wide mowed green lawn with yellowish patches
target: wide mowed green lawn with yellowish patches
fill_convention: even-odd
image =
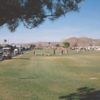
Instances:
[[[88,87],[100,90],[100,51],[37,50],[0,62],[0,100],[61,100]],[[64,99],[67,100],[67,99]],[[76,99],[72,99],[76,100]],[[78,99],[77,99],[78,100]]]

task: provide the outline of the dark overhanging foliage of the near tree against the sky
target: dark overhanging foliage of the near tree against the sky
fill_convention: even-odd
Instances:
[[[37,27],[46,18],[55,20],[70,11],[78,11],[83,0],[0,0],[0,26],[7,25],[11,32],[20,22],[26,28]]]

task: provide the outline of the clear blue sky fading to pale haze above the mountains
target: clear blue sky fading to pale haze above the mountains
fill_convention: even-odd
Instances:
[[[60,42],[70,37],[100,39],[100,0],[85,0],[80,12],[69,12],[55,21],[46,20],[34,29],[20,25],[14,33],[6,26],[0,28],[0,43]]]

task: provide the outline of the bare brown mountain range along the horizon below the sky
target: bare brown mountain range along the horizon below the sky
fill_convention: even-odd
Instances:
[[[80,37],[80,38],[76,38],[76,37],[71,37],[68,39],[65,39],[61,42],[34,42],[34,43],[12,43],[12,45],[21,45],[21,46],[26,46],[29,47],[31,44],[35,44],[36,46],[41,43],[42,46],[49,46],[49,47],[54,47],[56,44],[62,44],[63,42],[69,42],[70,43],[70,47],[72,46],[96,46],[99,45],[100,46],[100,39],[92,39],[92,38],[87,38],[87,37]],[[1,44],[1,46],[3,46],[5,44]]]

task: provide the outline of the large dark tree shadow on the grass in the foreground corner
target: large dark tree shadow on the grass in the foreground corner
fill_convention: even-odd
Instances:
[[[100,90],[94,88],[82,87],[78,88],[76,93],[66,96],[60,96],[59,99],[64,100],[100,100]]]

